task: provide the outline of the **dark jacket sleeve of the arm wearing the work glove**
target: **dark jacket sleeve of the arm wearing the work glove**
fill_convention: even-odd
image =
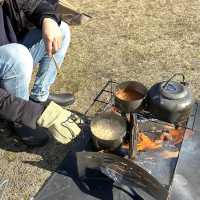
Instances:
[[[0,116],[6,120],[36,128],[37,120],[44,111],[39,103],[25,101],[0,88]]]

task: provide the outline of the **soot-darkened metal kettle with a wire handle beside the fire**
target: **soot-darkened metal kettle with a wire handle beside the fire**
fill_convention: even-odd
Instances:
[[[181,82],[173,81],[182,76]],[[193,106],[193,97],[189,84],[183,74],[174,74],[168,81],[153,85],[147,95],[147,110],[162,121],[176,125],[185,123]]]

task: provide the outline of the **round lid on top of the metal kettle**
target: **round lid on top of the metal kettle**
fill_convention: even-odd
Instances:
[[[183,84],[175,81],[170,81],[167,84],[166,82],[161,84],[161,94],[168,99],[175,100],[184,98],[188,94],[188,91]]]

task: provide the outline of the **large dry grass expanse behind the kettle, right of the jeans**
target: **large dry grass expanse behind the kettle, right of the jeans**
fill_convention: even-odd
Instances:
[[[84,110],[96,88],[109,78],[135,79],[150,86],[183,72],[199,95],[198,1],[70,2],[93,16],[88,25],[73,28],[64,74],[55,86],[77,91],[76,108],[82,105]]]

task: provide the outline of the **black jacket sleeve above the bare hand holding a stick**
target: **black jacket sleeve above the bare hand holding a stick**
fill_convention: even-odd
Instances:
[[[42,27],[45,17],[54,19],[59,25],[61,18],[56,10],[57,0],[18,0],[27,18],[38,28]]]

